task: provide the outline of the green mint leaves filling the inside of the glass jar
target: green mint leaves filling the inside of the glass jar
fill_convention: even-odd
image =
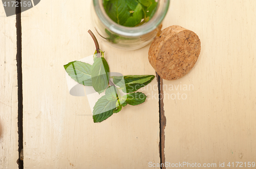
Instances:
[[[150,20],[157,9],[155,0],[103,0],[106,14],[116,23],[134,27]]]

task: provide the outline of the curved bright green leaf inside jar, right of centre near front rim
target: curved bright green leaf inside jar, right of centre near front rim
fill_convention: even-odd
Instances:
[[[133,27],[141,22],[142,19],[142,6],[141,4],[138,4],[137,7],[134,10],[133,16],[130,16],[126,22],[124,23],[124,26]]]

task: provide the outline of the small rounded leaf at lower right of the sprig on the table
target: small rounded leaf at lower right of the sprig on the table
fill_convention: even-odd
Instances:
[[[138,105],[146,100],[146,95],[141,92],[130,93],[128,95],[123,96],[122,99],[125,99],[125,102],[130,105]]]

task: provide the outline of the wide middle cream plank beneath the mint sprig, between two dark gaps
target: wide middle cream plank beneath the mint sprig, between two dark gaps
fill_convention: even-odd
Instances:
[[[63,65],[94,53],[91,1],[41,1],[22,13],[24,168],[145,168],[159,158],[156,78],[145,103],[93,123],[87,97],[69,94]],[[154,74],[149,46],[106,46],[111,72]],[[152,97],[153,96],[153,97]]]

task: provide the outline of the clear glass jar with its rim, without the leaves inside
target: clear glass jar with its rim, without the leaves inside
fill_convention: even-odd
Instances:
[[[114,22],[105,12],[102,0],[93,0],[91,19],[94,34],[109,45],[123,50],[139,49],[150,43],[161,33],[162,20],[169,8],[169,0],[158,0],[155,15],[137,27],[126,27]]]

